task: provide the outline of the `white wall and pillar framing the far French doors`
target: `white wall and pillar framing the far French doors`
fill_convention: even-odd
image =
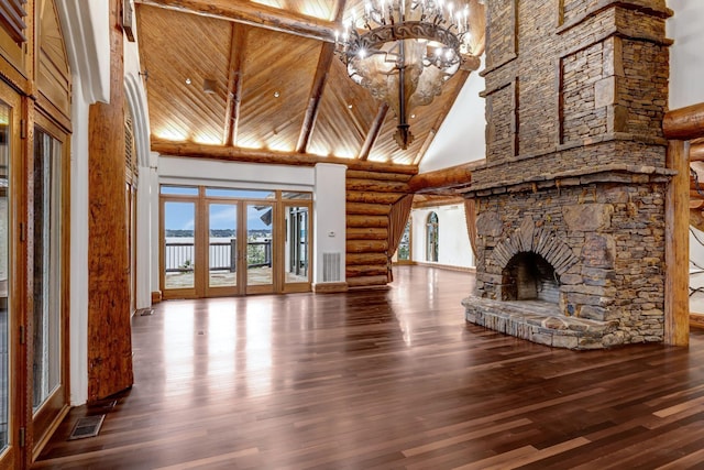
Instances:
[[[322,282],[323,252],[340,252],[340,282],[344,281],[345,252],[344,165],[319,163],[315,167],[220,162],[161,156],[158,183],[207,185],[242,189],[287,189],[314,194],[314,283]],[[158,192],[158,184],[155,188]],[[152,240],[158,253],[158,237]],[[154,267],[158,270],[158,265]],[[156,273],[158,277],[158,273]]]

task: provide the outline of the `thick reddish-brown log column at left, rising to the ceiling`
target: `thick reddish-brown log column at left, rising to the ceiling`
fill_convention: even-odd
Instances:
[[[120,4],[110,0],[110,103],[89,110],[89,402],[133,383]]]

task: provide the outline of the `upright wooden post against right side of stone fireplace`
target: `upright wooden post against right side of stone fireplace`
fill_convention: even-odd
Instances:
[[[670,141],[667,166],[676,170],[666,195],[664,342],[690,342],[690,172],[688,144]]]

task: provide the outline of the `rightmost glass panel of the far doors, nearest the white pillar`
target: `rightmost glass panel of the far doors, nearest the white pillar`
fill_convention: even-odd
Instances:
[[[310,209],[307,206],[286,206],[284,212],[286,226],[284,282],[286,284],[308,283]]]

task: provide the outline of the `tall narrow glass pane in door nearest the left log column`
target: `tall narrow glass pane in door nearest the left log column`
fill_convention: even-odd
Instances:
[[[33,408],[61,385],[62,144],[34,138],[34,354]]]

